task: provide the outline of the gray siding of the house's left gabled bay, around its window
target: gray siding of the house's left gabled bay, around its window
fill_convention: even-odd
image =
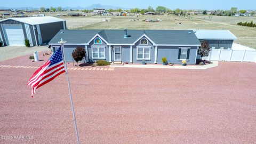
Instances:
[[[97,61],[98,59],[95,59],[95,58],[92,58],[92,47],[105,47],[105,58],[106,59],[103,59],[103,60],[106,60],[106,61],[109,61],[109,48],[108,48],[108,45],[101,39],[102,41],[102,44],[94,44],[94,39],[92,42],[89,43],[89,45],[87,46],[88,47],[88,51],[89,51],[89,62],[95,62]],[[102,59],[100,59],[102,60]]]

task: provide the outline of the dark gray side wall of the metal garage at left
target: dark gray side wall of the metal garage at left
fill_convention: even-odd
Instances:
[[[63,21],[60,22],[52,22],[52,23],[45,23],[39,25],[41,36],[42,36],[42,42],[48,43],[51,41],[51,39],[61,30],[64,29],[63,27]]]

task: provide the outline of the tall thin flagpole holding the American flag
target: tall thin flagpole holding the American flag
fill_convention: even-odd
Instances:
[[[70,103],[71,103],[71,108],[72,108],[72,114],[73,114],[73,121],[75,124],[75,131],[76,131],[76,140],[77,143],[80,144],[79,142],[79,136],[78,136],[78,131],[77,131],[77,126],[76,126],[76,116],[75,116],[75,110],[74,110],[74,106],[73,106],[73,98],[72,98],[72,93],[71,93],[71,89],[70,89],[70,83],[69,83],[69,78],[68,78],[68,69],[67,69],[67,63],[64,57],[64,43],[66,43],[67,41],[63,41],[63,39],[60,39],[60,43],[61,44],[61,53],[62,53],[62,59],[63,62],[65,64],[65,71],[66,71],[66,76],[67,76],[67,81],[68,81],[68,91],[69,91],[69,96],[70,96]]]

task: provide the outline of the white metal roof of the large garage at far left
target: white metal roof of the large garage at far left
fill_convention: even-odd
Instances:
[[[51,17],[51,16],[46,16],[46,17],[26,17],[26,18],[9,18],[0,21],[6,21],[6,20],[14,20],[14,21],[19,21],[22,23],[27,23],[29,25],[39,25],[39,24],[44,24],[44,23],[51,23],[51,22],[59,22],[59,21],[65,21],[63,19]]]

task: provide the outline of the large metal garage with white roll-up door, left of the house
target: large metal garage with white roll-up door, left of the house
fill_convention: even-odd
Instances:
[[[60,29],[66,29],[66,20],[55,17],[9,18],[0,21],[0,38],[4,45],[31,46],[48,43]]]

